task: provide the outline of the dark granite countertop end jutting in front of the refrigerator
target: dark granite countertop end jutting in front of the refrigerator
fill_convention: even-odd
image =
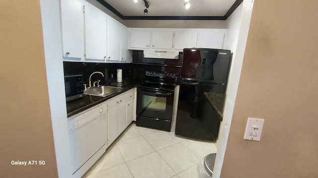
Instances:
[[[225,94],[204,92],[204,95],[210,102],[213,109],[217,111],[220,117],[220,120],[223,121],[223,107],[224,107],[224,101],[225,101]]]

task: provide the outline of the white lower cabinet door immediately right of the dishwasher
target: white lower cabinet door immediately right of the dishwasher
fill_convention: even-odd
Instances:
[[[107,140],[108,145],[110,145],[118,136],[118,107],[117,107],[117,97],[111,99],[107,104],[107,114],[108,114],[108,134]]]

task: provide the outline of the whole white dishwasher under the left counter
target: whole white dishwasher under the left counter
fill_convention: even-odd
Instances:
[[[72,173],[80,178],[106,151],[107,114],[106,104],[69,118],[69,137]]]

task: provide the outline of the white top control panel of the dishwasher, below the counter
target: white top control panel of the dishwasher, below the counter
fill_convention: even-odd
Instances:
[[[78,129],[83,124],[89,122],[96,117],[105,114],[107,111],[106,104],[101,103],[97,106],[94,106],[86,111],[79,113],[78,115],[72,116],[68,119],[69,123],[69,132]]]

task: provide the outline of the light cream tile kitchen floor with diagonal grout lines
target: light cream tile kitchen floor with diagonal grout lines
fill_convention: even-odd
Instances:
[[[82,178],[198,178],[197,164],[216,153],[213,141],[132,123]]]

